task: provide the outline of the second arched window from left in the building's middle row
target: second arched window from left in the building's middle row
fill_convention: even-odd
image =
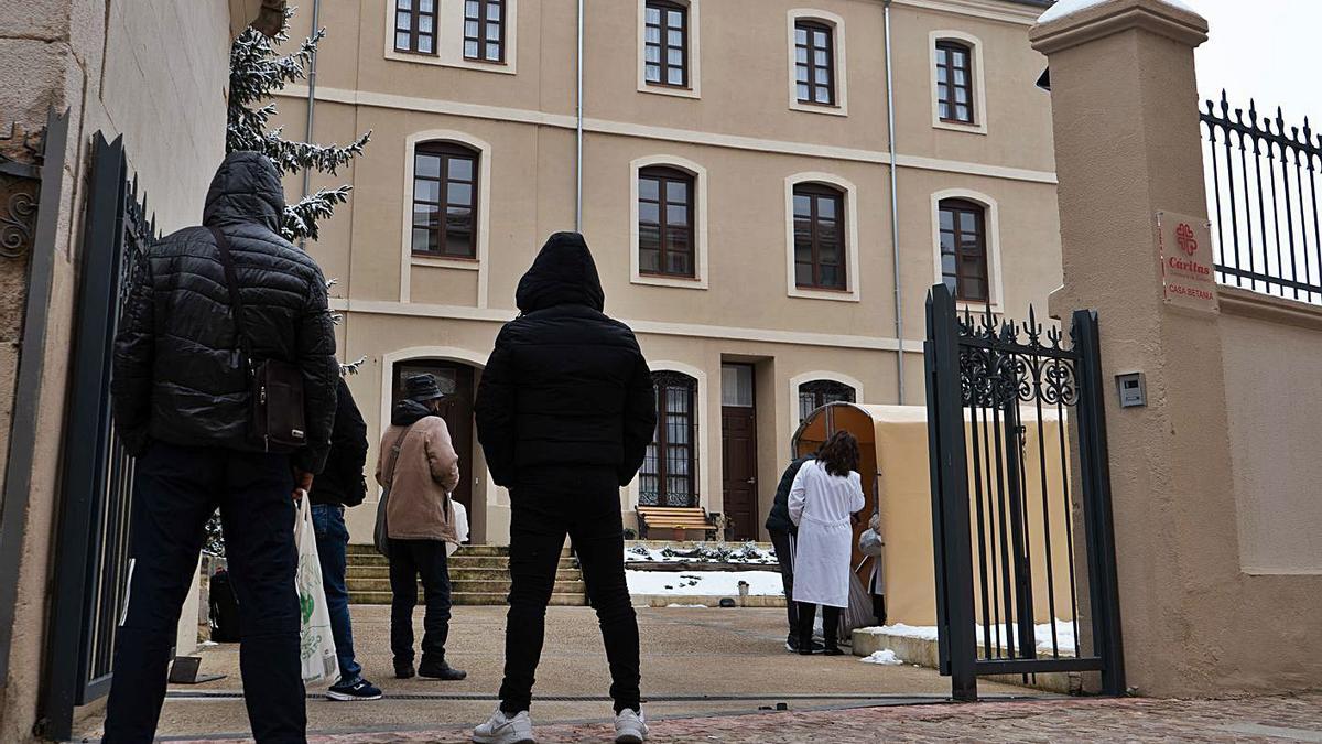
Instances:
[[[639,273],[693,278],[694,177],[678,168],[639,171]]]

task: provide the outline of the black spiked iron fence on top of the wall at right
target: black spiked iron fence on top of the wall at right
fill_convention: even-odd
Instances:
[[[1322,216],[1317,169],[1322,135],[1305,116],[1290,126],[1280,107],[1263,114],[1207,101],[1199,113],[1207,134],[1208,213],[1216,233],[1216,274],[1223,285],[1322,303]]]

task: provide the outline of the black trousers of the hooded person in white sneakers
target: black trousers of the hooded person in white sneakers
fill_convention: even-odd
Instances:
[[[547,469],[520,477],[510,490],[509,617],[501,710],[526,711],[542,657],[546,604],[568,535],[583,568],[611,666],[615,711],[639,710],[639,622],[624,579],[624,524],[613,470]]]

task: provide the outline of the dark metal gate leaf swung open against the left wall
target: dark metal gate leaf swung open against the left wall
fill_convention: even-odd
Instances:
[[[134,459],[111,425],[110,371],[130,279],[156,226],[128,181],[123,138],[94,138],[83,234],[41,714],[42,733],[58,740],[70,736],[75,706],[110,691],[128,593]]]

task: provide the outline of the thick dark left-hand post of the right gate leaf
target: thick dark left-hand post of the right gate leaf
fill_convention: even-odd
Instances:
[[[951,696],[978,699],[978,655],[973,612],[973,544],[969,534],[969,474],[965,466],[964,401],[960,398],[958,319],[944,285],[927,298],[928,458],[932,470],[932,547],[936,568],[940,671],[951,675]]]

